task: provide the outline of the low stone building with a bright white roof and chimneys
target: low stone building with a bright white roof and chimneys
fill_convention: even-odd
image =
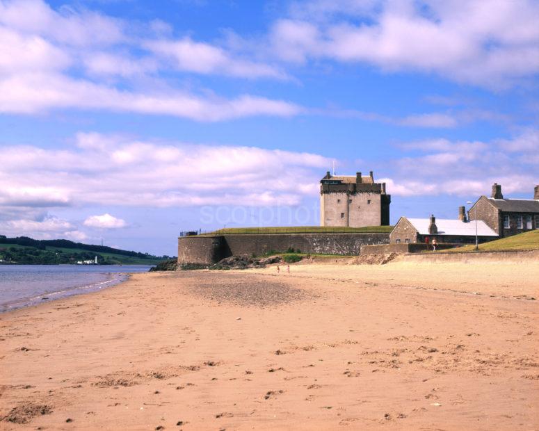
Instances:
[[[436,220],[434,215],[430,218],[401,217],[389,234],[389,243],[432,243],[435,239],[438,244],[474,244],[476,224],[467,221],[463,214],[465,209],[461,206],[456,220]],[[498,234],[481,220],[477,221],[477,235],[479,243],[498,238]]]

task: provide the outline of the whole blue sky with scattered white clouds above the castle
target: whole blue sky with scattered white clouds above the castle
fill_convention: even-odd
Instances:
[[[176,254],[317,225],[374,172],[402,215],[539,184],[539,2],[0,0],[0,234]],[[468,205],[469,207],[469,205]]]

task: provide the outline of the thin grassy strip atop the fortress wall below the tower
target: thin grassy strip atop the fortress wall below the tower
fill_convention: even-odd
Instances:
[[[324,227],[324,226],[281,226],[281,227],[227,227],[203,235],[231,234],[389,234],[393,226],[367,227]]]

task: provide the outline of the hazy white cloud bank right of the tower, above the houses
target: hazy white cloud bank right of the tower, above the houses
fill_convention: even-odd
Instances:
[[[400,196],[488,195],[497,182],[508,194],[532,197],[533,186],[539,184],[537,136],[535,129],[525,129],[513,138],[490,142],[432,139],[403,143],[397,147],[419,154],[385,163],[392,176],[382,181],[387,182],[388,193]],[[521,158],[515,158],[513,152],[520,152]]]

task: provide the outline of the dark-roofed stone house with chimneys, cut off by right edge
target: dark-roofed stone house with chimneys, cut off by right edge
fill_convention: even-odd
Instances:
[[[490,197],[481,196],[468,211],[470,220],[483,220],[500,238],[539,229],[539,186],[533,199],[506,199],[494,183]]]

